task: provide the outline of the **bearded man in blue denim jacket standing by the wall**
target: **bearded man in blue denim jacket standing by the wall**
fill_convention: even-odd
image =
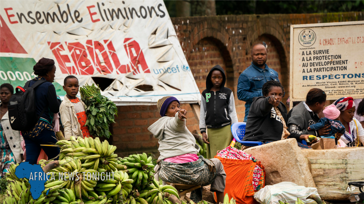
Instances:
[[[250,105],[254,97],[262,96],[262,86],[270,80],[279,81],[278,73],[265,64],[267,61],[267,49],[262,44],[256,44],[252,48],[252,65],[240,74],[238,80],[238,99],[245,101],[244,122],[248,118]]]

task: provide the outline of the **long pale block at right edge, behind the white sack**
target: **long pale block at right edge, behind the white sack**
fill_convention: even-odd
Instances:
[[[364,147],[302,150],[309,159],[317,192],[323,200],[347,200],[354,191],[348,183],[364,180]],[[264,164],[263,164],[264,166]]]

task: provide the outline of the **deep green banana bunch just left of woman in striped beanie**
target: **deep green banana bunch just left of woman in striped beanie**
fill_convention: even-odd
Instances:
[[[128,157],[118,158],[118,163],[127,166],[129,179],[133,179],[133,186],[139,191],[149,187],[154,179],[154,165],[152,157],[146,153],[133,154]]]

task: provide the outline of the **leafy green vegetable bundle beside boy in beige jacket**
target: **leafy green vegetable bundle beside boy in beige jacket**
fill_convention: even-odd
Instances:
[[[101,95],[100,88],[94,84],[80,87],[81,100],[87,106],[86,124],[90,134],[94,137],[110,137],[109,123],[114,123],[114,115],[117,116],[118,108],[115,103]]]

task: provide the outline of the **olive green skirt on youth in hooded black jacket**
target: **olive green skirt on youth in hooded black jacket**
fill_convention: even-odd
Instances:
[[[233,134],[231,133],[231,125],[220,128],[207,128],[207,159],[214,158],[217,151],[221,151],[230,145]]]

